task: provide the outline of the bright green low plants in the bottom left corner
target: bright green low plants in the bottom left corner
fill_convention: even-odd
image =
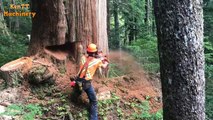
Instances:
[[[21,116],[22,120],[34,120],[35,116],[41,116],[41,107],[36,104],[13,104],[7,107],[6,111],[0,115]]]

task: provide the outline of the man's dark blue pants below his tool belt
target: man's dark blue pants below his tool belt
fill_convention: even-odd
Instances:
[[[97,98],[96,98],[96,93],[95,90],[93,88],[93,86],[91,85],[91,83],[89,85],[83,85],[83,90],[86,92],[88,98],[89,98],[89,102],[90,102],[90,108],[89,108],[89,112],[90,112],[90,120],[98,120],[98,105],[97,105]],[[78,97],[81,95],[82,91],[80,91],[78,89],[78,87],[74,88],[74,98],[73,99],[78,99]]]

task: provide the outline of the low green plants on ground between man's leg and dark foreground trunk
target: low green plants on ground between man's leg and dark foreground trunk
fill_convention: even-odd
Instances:
[[[117,116],[119,119],[132,120],[162,120],[162,110],[156,113],[150,113],[148,101],[133,100],[132,102],[124,102],[118,96],[112,94],[111,99],[98,102],[99,116],[103,120],[107,120],[108,115]],[[127,112],[129,111],[129,112]],[[130,112],[131,111],[131,112]]]

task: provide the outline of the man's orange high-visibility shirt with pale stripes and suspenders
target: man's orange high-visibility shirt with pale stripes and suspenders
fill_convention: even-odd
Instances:
[[[93,79],[93,76],[94,76],[97,68],[102,66],[102,61],[100,59],[97,59],[97,58],[94,58],[94,57],[82,56],[81,62],[80,62],[80,70],[82,69],[82,67],[84,66],[84,63],[87,60],[89,60],[87,71],[86,71],[86,67],[85,67],[80,74],[80,78],[83,78],[84,75],[85,75],[85,72],[86,72],[85,79],[91,80],[91,79]]]

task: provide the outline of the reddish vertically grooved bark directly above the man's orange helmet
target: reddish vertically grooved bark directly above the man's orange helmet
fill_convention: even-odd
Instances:
[[[97,43],[96,0],[69,0],[66,8],[69,41],[83,41],[84,48]]]

